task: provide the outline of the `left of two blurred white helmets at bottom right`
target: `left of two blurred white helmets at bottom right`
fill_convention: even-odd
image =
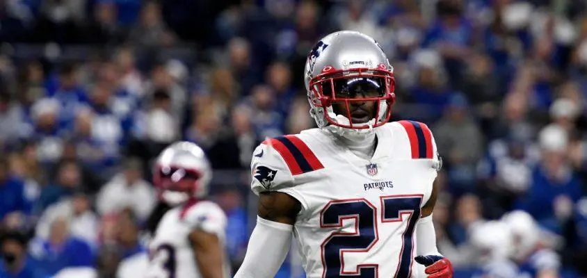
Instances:
[[[506,260],[512,252],[512,233],[501,221],[488,221],[471,227],[471,245],[476,261],[485,265],[493,261]]]

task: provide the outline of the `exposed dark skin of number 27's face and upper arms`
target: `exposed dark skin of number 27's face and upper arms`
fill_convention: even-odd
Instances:
[[[356,97],[374,97],[378,95],[377,92],[362,92],[357,93]],[[375,101],[362,101],[362,102],[351,102],[348,106],[351,111],[351,120],[354,124],[361,124],[369,122],[376,113]],[[344,102],[335,102],[332,104],[332,110],[341,115],[346,115],[346,104]],[[376,140],[377,143],[377,140]],[[377,147],[377,145],[376,145]],[[436,181],[433,183],[433,190],[428,199],[428,202],[421,209],[421,217],[424,218],[432,214],[434,205],[436,204],[436,198],[438,195],[438,186]],[[298,200],[286,193],[280,193],[275,191],[269,191],[259,194],[259,206],[257,208],[257,214],[259,217],[273,222],[280,222],[284,224],[293,225],[296,222],[296,217],[302,205]]]

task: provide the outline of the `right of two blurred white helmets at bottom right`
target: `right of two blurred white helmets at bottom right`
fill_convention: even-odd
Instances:
[[[516,261],[522,261],[531,254],[540,240],[540,228],[529,213],[511,211],[501,217],[513,233],[513,254]]]

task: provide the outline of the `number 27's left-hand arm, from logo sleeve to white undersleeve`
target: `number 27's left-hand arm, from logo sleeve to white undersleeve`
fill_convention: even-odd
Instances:
[[[302,208],[296,198],[286,193],[294,181],[279,154],[264,145],[257,147],[255,154],[251,188],[259,195],[257,225],[235,278],[275,277],[289,251],[293,225]]]

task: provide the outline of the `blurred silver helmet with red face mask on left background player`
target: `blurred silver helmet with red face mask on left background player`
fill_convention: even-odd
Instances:
[[[170,205],[208,194],[212,177],[202,148],[192,142],[176,142],[159,154],[153,182],[160,197]]]

